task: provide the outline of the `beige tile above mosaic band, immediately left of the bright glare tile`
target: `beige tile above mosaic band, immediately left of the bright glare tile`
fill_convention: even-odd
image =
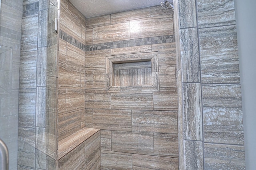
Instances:
[[[130,22],[115,23],[93,28],[93,43],[106,43],[130,39]]]

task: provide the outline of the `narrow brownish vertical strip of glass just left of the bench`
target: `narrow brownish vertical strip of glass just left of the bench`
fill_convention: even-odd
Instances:
[[[48,20],[48,51],[47,51],[47,86],[46,86],[46,148],[48,169],[56,169],[58,161],[58,34],[55,30],[56,18],[59,16],[59,2],[50,1]],[[58,24],[58,21],[57,21]]]

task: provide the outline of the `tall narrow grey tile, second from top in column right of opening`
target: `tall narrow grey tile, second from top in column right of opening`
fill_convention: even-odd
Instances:
[[[198,34],[196,28],[180,30],[182,82],[200,82]]]

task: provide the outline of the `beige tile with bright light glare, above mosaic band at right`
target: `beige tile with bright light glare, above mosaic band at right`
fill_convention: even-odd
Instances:
[[[172,16],[155,16],[130,21],[130,39],[163,35],[174,35]]]

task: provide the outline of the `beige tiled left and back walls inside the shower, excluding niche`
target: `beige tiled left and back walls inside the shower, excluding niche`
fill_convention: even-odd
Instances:
[[[69,1],[61,2],[60,11],[58,141],[82,127],[99,128],[102,169],[177,169],[178,99],[172,10],[154,6],[88,18],[86,25]],[[109,90],[107,58],[119,56],[123,61],[134,61],[153,53],[158,57],[159,89],[112,86]]]

